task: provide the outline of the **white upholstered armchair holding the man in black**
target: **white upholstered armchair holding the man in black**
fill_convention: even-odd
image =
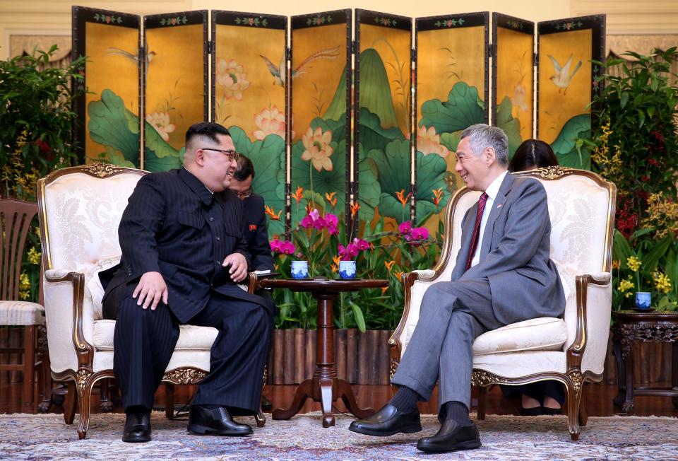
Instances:
[[[114,320],[102,320],[98,272],[120,259],[118,224],[143,170],[95,163],[63,168],[37,183],[44,269],[44,308],[52,378],[66,381],[64,419],[73,424],[79,401],[78,435],[85,438],[90,395],[98,380],[113,378]],[[256,277],[251,277],[250,289]],[[218,331],[182,325],[165,383],[194,384],[210,370]],[[173,410],[171,388],[167,416]],[[257,424],[265,419],[259,412]]]

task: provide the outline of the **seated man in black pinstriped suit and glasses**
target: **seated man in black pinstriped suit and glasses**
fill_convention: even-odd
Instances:
[[[234,284],[249,265],[242,204],[228,190],[238,155],[227,129],[194,124],[186,132],[184,167],[145,175],[129,197],[118,229],[121,264],[104,298],[107,310],[117,304],[114,372],[126,442],[150,440],[153,395],[180,324],[219,330],[188,430],[252,433],[232,415],[258,410],[273,306]]]

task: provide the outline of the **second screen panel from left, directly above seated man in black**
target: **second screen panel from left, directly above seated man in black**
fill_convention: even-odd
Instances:
[[[179,168],[186,129],[207,119],[206,10],[144,16],[143,168]]]

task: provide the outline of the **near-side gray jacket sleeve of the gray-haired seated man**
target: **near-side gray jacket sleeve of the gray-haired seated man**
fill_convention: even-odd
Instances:
[[[496,249],[468,269],[462,279],[477,279],[524,267],[535,256],[540,236],[550,222],[544,187],[536,180],[524,182],[521,194],[511,204],[507,226]]]

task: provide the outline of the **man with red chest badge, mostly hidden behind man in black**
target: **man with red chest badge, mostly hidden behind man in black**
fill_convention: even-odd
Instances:
[[[233,173],[229,188],[242,200],[242,233],[252,259],[250,267],[254,271],[275,272],[273,253],[270,251],[270,243],[268,243],[263,197],[252,192],[252,180],[254,180],[254,165],[252,165],[252,161],[249,158],[241,155],[238,158],[238,168]],[[271,298],[267,290],[261,288],[261,286],[257,286],[257,288],[256,294],[267,298],[273,303],[273,298]],[[271,337],[273,337],[273,327],[275,327],[274,315],[275,312],[272,310],[269,318]],[[270,345],[268,350],[270,350]],[[268,411],[272,407],[273,405],[270,400],[261,395],[261,409]]]

